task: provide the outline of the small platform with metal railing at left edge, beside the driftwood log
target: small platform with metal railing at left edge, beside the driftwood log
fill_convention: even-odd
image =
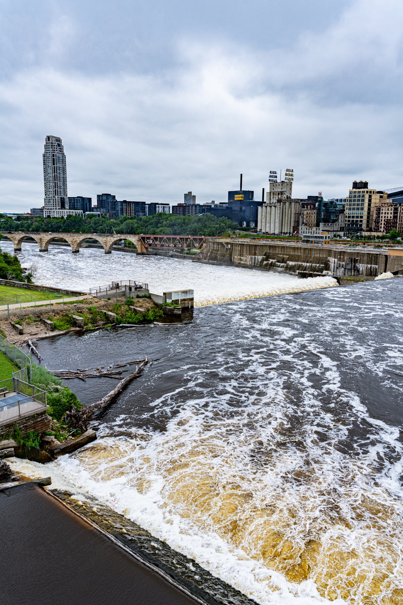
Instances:
[[[10,420],[18,420],[26,414],[47,409],[46,391],[34,387],[18,378],[7,378],[0,381],[0,391],[15,391],[18,396],[2,397],[0,392],[0,425],[8,424]]]

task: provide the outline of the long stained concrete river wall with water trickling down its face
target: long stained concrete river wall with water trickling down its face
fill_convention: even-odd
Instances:
[[[388,255],[363,250],[334,250],[325,247],[242,243],[207,240],[203,261],[240,267],[292,273],[356,276],[374,279],[387,269]],[[202,261],[202,262],[203,262]],[[393,269],[392,269],[393,270]]]

